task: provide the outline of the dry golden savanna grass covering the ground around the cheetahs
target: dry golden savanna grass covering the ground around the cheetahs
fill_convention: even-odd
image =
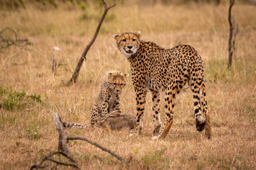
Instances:
[[[87,54],[77,83],[65,86],[90,42],[102,12],[100,3],[71,6],[26,6],[0,11],[0,28],[16,30],[29,45],[0,50],[0,169],[29,169],[58,149],[53,112],[63,120],[90,124],[105,72],[130,74],[129,63],[115,47],[113,34],[142,31],[142,40],[171,48],[189,44],[205,63],[206,98],[213,137],[196,131],[190,90],[178,95],[174,124],[164,140],[151,140],[151,95],[146,98],[143,135],[67,130],[87,137],[129,160],[128,166],[86,143],[68,146],[82,169],[255,169],[256,167],[256,8],[238,2],[237,55],[228,62],[228,3],[117,3],[110,9],[97,40]],[[111,5],[111,3],[108,3]],[[13,36],[5,32],[4,36]],[[1,42],[1,45],[4,43]],[[59,47],[60,50],[53,50]],[[58,72],[51,71],[53,58]],[[163,101],[163,95],[161,96]],[[163,102],[162,102],[163,104]],[[122,113],[136,114],[131,79],[121,100]],[[161,106],[161,120],[164,109]]]

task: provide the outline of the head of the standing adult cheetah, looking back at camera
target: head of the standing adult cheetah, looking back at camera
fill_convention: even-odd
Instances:
[[[122,33],[121,35],[113,35],[113,38],[117,41],[117,47],[120,52],[128,59],[139,49],[139,38],[141,35],[142,33],[137,31],[136,33]]]

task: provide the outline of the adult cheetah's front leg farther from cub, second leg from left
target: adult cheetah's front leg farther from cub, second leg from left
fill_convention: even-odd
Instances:
[[[153,135],[158,135],[161,129],[161,120],[160,120],[160,93],[159,91],[151,91],[152,94],[152,110],[153,110],[153,121],[154,121],[154,131]]]

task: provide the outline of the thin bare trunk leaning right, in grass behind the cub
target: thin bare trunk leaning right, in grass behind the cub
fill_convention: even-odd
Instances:
[[[93,42],[95,42],[96,38],[97,38],[97,34],[99,33],[100,31],[100,27],[102,25],[102,22],[104,21],[105,19],[105,16],[107,15],[107,11],[114,7],[116,4],[112,5],[112,6],[107,6],[107,3],[105,0],[102,0],[102,3],[103,3],[103,6],[104,6],[104,13],[102,14],[102,18],[100,19],[100,23],[98,24],[97,26],[97,29],[95,31],[95,35],[93,36],[92,40],[90,41],[90,43],[87,45],[87,47],[85,48],[85,51],[82,52],[82,56],[80,57],[80,60],[78,62],[78,65],[77,67],[75,67],[75,72],[73,73],[71,79],[68,81],[68,84],[67,85],[70,85],[71,83],[75,83],[76,79],[78,78],[78,74],[80,72],[80,68],[82,67],[82,62],[84,60],[86,60],[86,55],[87,55],[87,52],[88,50],[90,49],[90,47],[92,46]]]

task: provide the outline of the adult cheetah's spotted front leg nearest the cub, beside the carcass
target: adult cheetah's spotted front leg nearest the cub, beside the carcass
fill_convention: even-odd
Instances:
[[[137,123],[134,134],[142,135],[142,117],[144,113],[145,103],[146,103],[146,91],[136,91],[136,101],[137,101]],[[130,136],[134,135],[131,134]]]

